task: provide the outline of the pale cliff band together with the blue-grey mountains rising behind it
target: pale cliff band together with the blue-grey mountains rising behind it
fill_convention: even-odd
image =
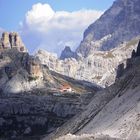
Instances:
[[[76,52],[66,49],[62,60],[39,51],[42,64],[58,73],[106,87],[114,83],[117,67],[131,57],[140,39],[140,1],[116,0],[84,32]],[[68,52],[68,53],[67,53]],[[73,56],[78,55],[78,59]]]

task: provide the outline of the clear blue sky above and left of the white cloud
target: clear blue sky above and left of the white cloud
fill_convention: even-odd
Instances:
[[[48,3],[56,11],[76,11],[80,9],[105,10],[114,0],[0,0],[0,27],[17,30],[25,13],[38,2]]]

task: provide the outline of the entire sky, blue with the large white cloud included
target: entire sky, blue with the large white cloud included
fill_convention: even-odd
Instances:
[[[41,48],[60,55],[66,45],[78,47],[84,30],[113,1],[0,0],[0,32],[19,32],[30,53]]]

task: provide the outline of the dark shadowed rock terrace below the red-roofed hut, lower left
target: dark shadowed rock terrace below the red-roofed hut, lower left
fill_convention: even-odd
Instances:
[[[26,136],[50,133],[84,109],[88,104],[86,96],[3,96],[0,98],[0,137],[26,139]]]

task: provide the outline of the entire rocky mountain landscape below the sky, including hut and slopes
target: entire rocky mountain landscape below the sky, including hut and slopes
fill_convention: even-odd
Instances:
[[[139,26],[140,0],[116,0],[59,58],[3,32],[0,140],[140,140]]]

